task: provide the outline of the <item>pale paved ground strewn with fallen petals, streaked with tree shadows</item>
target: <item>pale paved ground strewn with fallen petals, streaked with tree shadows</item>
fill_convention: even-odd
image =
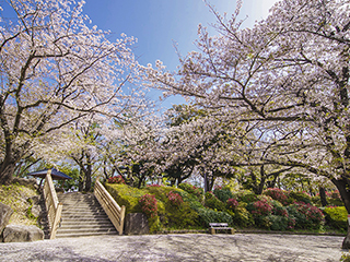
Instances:
[[[337,261],[342,237],[143,235],[0,243],[0,261]]]

